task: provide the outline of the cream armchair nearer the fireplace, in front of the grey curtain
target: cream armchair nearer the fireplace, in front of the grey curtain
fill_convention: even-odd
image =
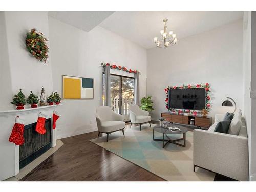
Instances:
[[[123,116],[116,114],[109,106],[100,106],[97,108],[96,121],[99,134],[106,133],[106,142],[108,142],[109,134],[112,132],[122,131],[124,136],[123,129],[125,123],[123,122]]]

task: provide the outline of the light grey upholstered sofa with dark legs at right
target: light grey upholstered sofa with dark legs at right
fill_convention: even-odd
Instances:
[[[201,167],[239,181],[248,181],[248,137],[245,120],[238,112],[230,123],[228,133],[214,132],[217,123],[224,116],[215,115],[215,123],[207,131],[194,130],[194,171],[195,167]],[[237,130],[239,125],[240,129]],[[234,130],[236,133],[232,133]]]

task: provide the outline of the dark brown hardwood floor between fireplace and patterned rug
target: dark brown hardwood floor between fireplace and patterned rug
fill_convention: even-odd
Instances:
[[[64,145],[20,181],[165,181],[89,141],[97,136],[61,139]]]

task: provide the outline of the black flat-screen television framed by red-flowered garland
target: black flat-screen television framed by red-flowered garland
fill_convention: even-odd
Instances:
[[[168,108],[202,110],[205,109],[205,89],[169,89]]]

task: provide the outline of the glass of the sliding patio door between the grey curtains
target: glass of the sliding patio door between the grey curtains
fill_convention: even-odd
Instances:
[[[129,105],[134,103],[134,78],[111,74],[110,81],[111,108],[115,113],[122,114],[125,121],[129,121]],[[104,103],[104,74],[102,88]]]

